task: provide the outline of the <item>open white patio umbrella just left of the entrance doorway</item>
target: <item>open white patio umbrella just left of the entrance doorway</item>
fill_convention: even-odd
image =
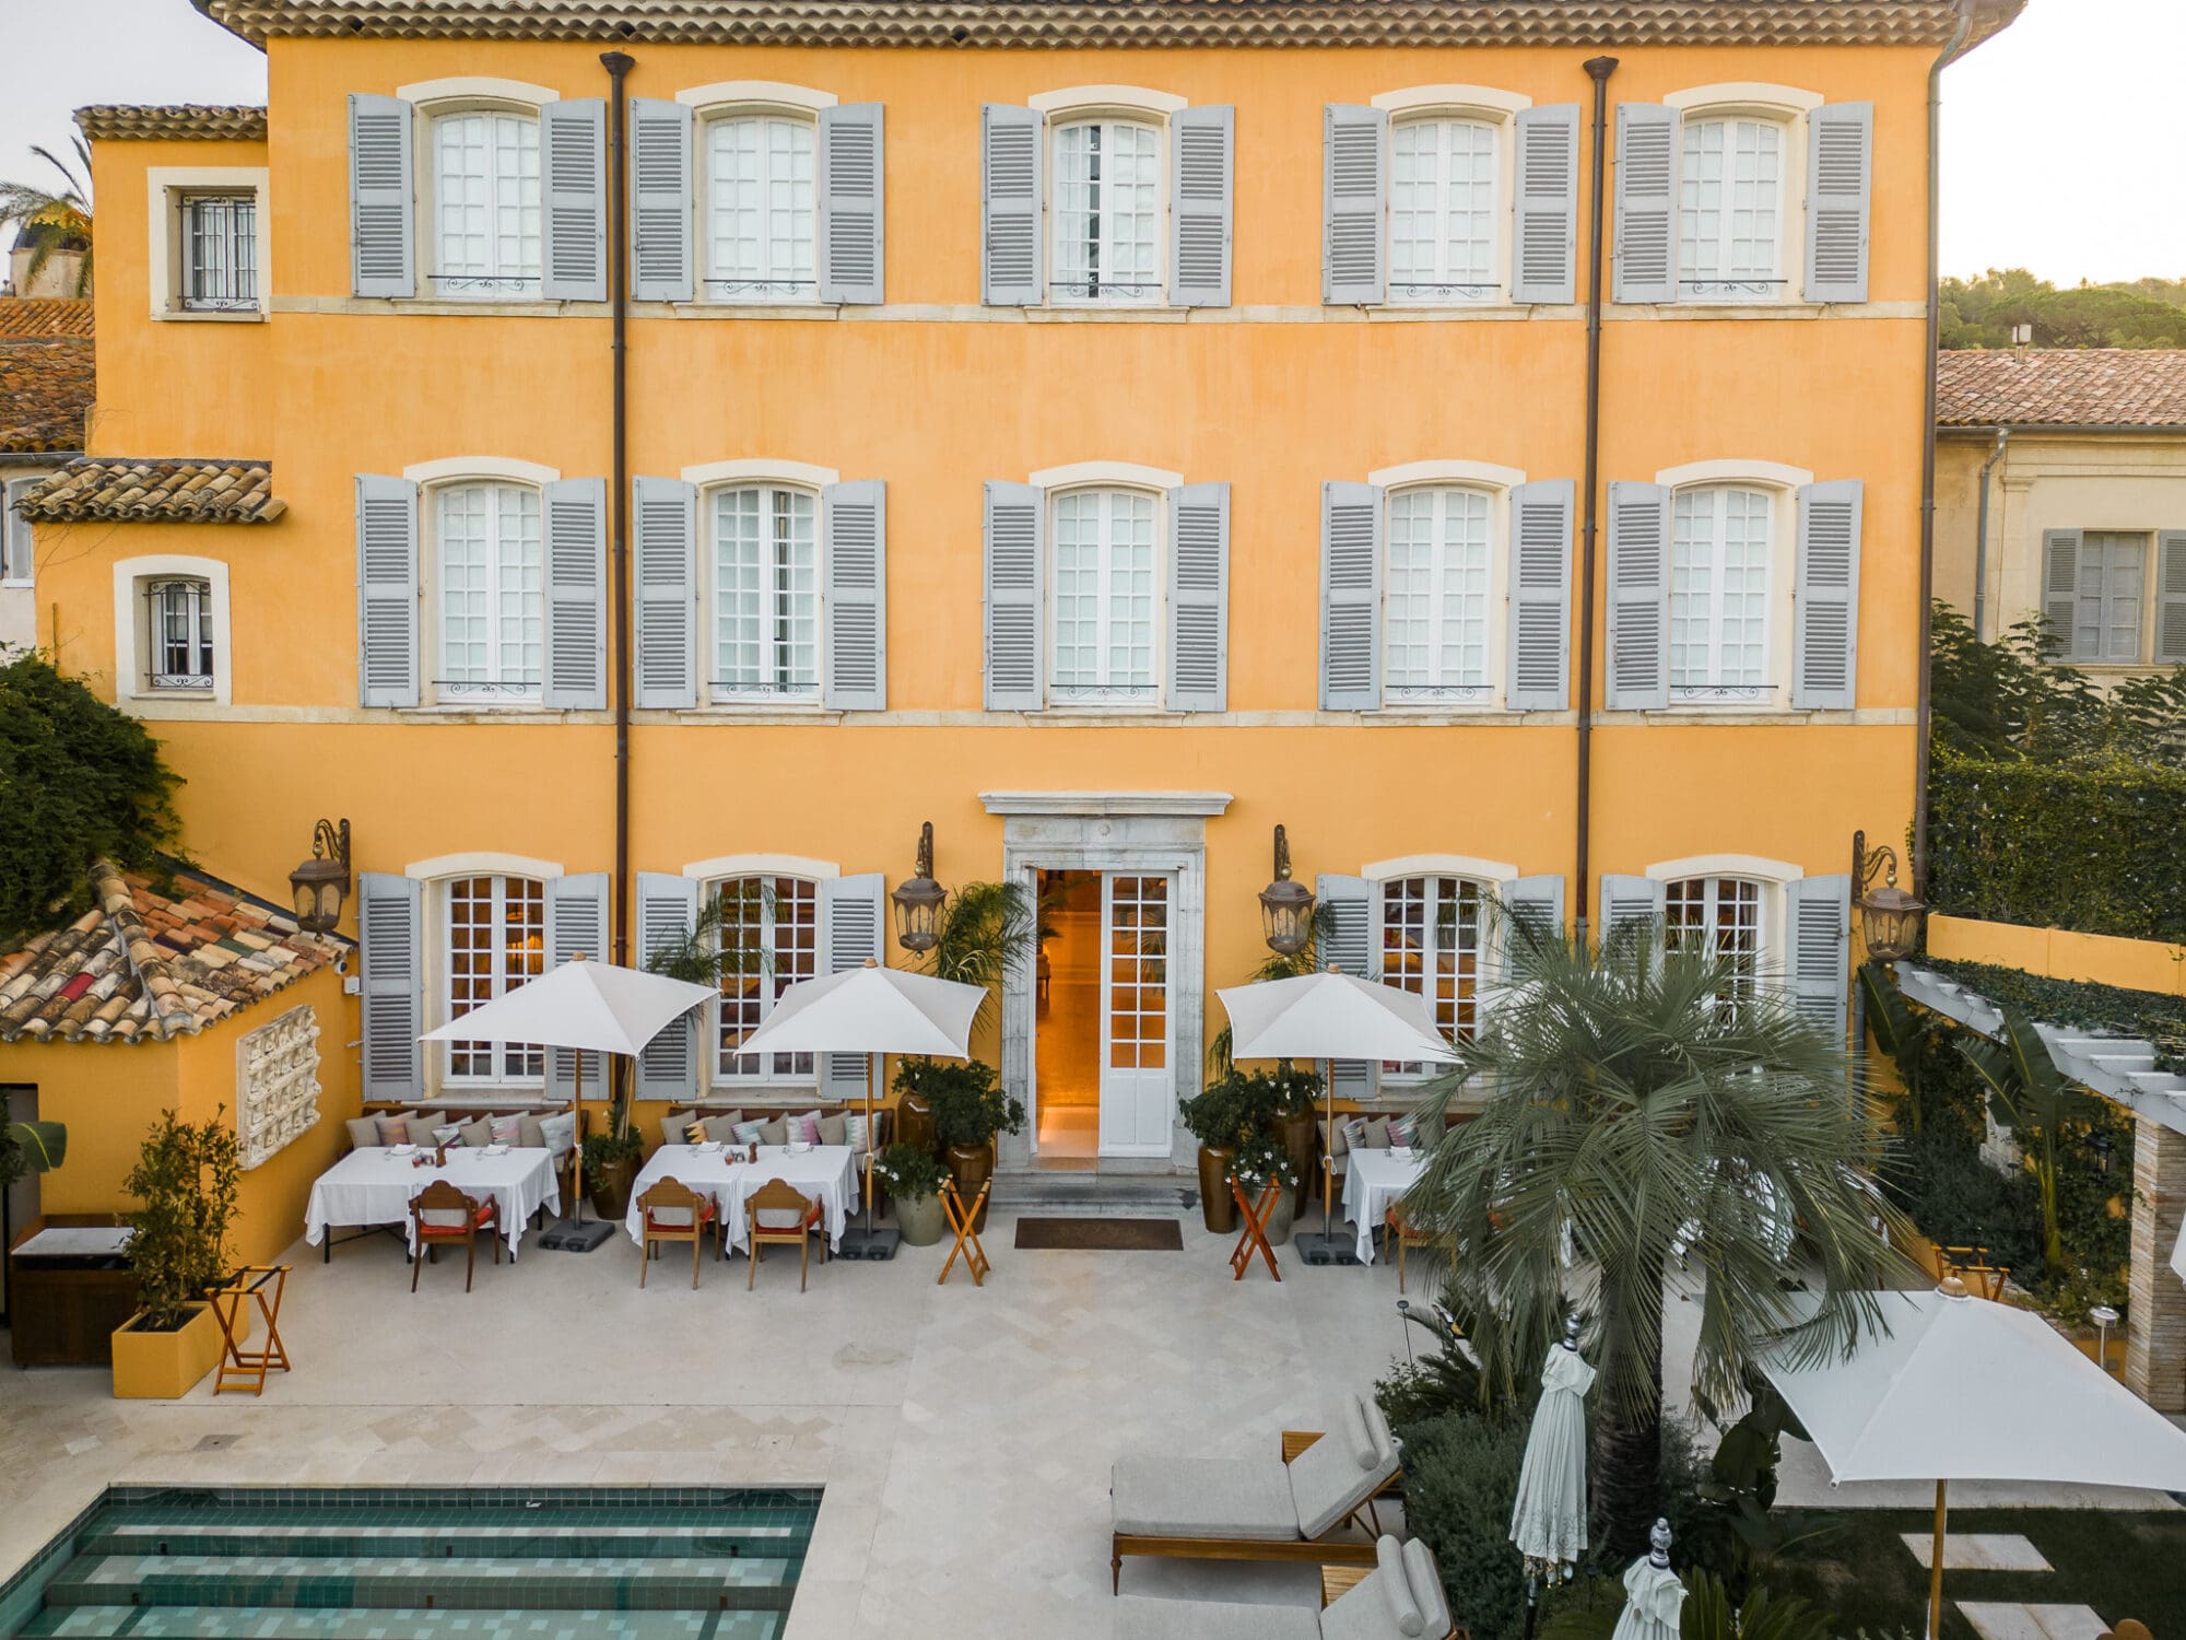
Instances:
[[[774,1004],[774,1012],[737,1043],[739,1054],[870,1054],[866,1078],[866,1235],[863,1253],[888,1257],[892,1244],[872,1229],[872,1080],[881,1054],[971,1058],[971,1021],[986,1001],[986,986],[936,980],[927,973],[883,969],[872,958],[826,980],[802,980]],[[853,1253],[855,1257],[857,1253]]]

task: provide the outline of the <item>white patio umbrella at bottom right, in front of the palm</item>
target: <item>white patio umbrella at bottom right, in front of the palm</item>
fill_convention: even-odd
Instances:
[[[1943,1618],[1943,1522],[1952,1480],[2031,1480],[2186,1491],[2186,1430],[2081,1356],[2035,1314],[1967,1297],[1882,1295],[1889,1338],[1847,1358],[1760,1356],[1821,1448],[1830,1478],[1935,1480],[1928,1633]]]

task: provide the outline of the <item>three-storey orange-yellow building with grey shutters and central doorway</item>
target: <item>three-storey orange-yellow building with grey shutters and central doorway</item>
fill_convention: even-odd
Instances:
[[[1189,1165],[1279,822],[1325,956],[1449,1030],[1497,901],[1843,1019],[1852,833],[1913,807],[1928,77],[2011,7],[409,11],[214,0],[262,114],[85,114],[98,405],[28,503],[197,859],[278,890],[350,818],[367,1102],[555,1091],[415,1036],[724,890],[763,977],[643,1109],[855,1096],[734,1047],[907,960],[927,820],[1067,929],[986,1026],[1006,1168]]]

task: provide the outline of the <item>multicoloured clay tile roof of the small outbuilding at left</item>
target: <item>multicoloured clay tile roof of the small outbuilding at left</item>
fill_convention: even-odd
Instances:
[[[151,936],[160,923],[197,916],[186,907],[203,903],[208,890],[225,905],[221,918],[249,936],[249,956],[205,945],[216,936],[190,923],[177,932],[201,947],[195,953]],[[339,936],[304,934],[275,905],[221,892],[181,868],[175,892],[162,897],[149,875],[101,859],[92,866],[92,901],[94,910],[68,927],[0,956],[0,1043],[195,1036],[350,949]]]

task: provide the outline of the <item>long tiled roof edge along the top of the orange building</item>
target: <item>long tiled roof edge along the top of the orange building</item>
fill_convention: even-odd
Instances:
[[[1972,39],[2024,0],[1981,0]],[[1911,46],[1950,0],[210,0],[271,35],[741,46]]]

